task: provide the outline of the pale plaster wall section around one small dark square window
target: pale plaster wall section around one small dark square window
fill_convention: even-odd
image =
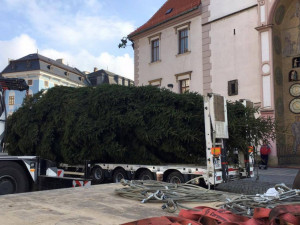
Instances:
[[[234,2],[250,3],[253,1]],[[223,7],[222,4],[220,8],[228,8]],[[230,5],[236,7],[235,4],[237,3]],[[228,81],[238,79],[238,95],[228,98],[231,100],[243,98],[255,103],[260,102],[260,40],[259,33],[255,30],[257,18],[258,11],[254,7],[211,24],[211,85],[214,93],[227,96]]]

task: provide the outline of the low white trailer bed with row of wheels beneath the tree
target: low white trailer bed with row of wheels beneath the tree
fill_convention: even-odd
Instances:
[[[68,174],[83,176],[84,167],[61,165],[65,176]],[[71,172],[70,172],[71,171]],[[206,180],[206,177],[208,180]],[[208,174],[207,167],[201,165],[138,165],[95,163],[91,165],[90,178],[94,183],[103,183],[109,180],[118,183],[121,179],[129,180],[158,180],[169,183],[185,183],[195,179],[192,183],[199,183],[198,179],[210,185],[222,183],[222,171]]]

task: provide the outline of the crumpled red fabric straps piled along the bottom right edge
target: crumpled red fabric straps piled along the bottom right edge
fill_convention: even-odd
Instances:
[[[222,209],[196,207],[181,210],[178,217],[155,217],[122,225],[300,225],[300,205],[280,205],[274,209],[256,208],[253,218]]]

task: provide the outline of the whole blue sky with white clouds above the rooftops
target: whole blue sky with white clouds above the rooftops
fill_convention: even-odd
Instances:
[[[133,50],[120,39],[165,0],[0,0],[0,71],[30,53],[82,71],[94,67],[133,79]]]

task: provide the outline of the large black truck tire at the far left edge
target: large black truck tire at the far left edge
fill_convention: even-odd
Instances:
[[[0,195],[29,191],[26,171],[16,162],[0,163]]]

